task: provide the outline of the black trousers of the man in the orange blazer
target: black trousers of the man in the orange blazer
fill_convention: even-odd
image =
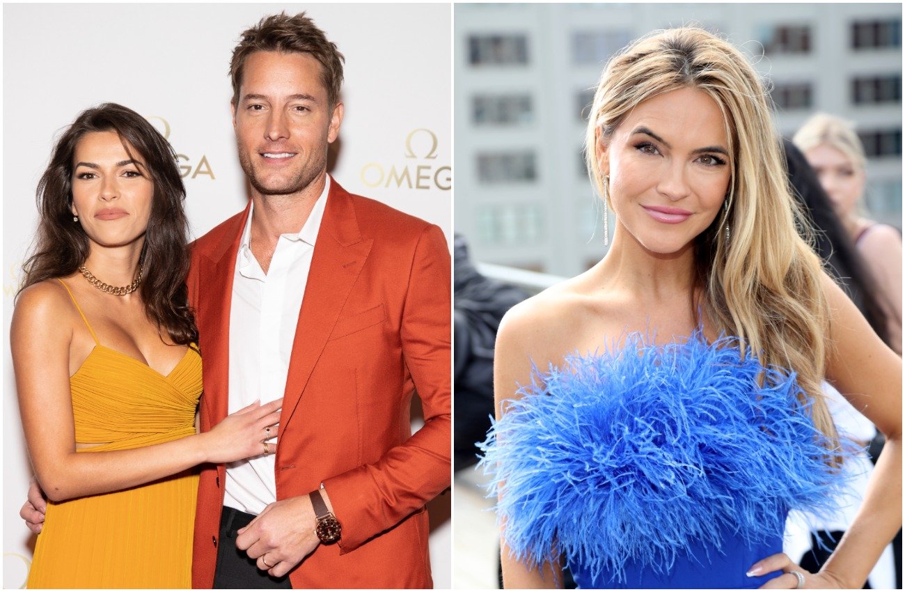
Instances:
[[[291,588],[288,576],[273,578],[258,569],[256,559],[250,559],[245,551],[235,546],[236,530],[254,520],[254,514],[233,510],[224,506],[220,517],[220,542],[217,545],[217,568],[214,571],[215,588]]]

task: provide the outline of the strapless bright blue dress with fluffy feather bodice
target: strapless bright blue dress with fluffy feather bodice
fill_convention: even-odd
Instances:
[[[519,394],[481,444],[498,520],[516,558],[556,548],[579,587],[759,587],[779,573],[745,573],[782,552],[786,513],[841,484],[795,373],[735,338],[629,335]]]

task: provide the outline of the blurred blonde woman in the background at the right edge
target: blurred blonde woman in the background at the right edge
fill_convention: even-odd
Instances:
[[[805,153],[820,185],[861,253],[879,288],[891,348],[902,352],[902,241],[900,232],[863,215],[864,148],[852,124],[818,113],[792,139]]]

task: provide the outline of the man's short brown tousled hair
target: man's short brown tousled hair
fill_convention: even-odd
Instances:
[[[265,16],[242,33],[242,41],[233,50],[230,78],[233,81],[233,105],[239,104],[239,87],[245,71],[245,60],[255,52],[308,53],[320,63],[320,80],[327,88],[329,108],[339,100],[342,88],[342,67],[346,58],[336,43],[327,39],[314,21],[305,13],[290,16],[286,13]]]

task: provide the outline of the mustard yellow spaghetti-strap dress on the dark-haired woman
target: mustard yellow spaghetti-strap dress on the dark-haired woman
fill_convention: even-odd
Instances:
[[[163,376],[100,345],[70,297],[96,344],[70,378],[75,441],[110,443],[80,454],[195,434],[202,389],[195,349]],[[49,501],[28,587],[191,587],[197,487],[197,472],[190,470],[119,492]]]

